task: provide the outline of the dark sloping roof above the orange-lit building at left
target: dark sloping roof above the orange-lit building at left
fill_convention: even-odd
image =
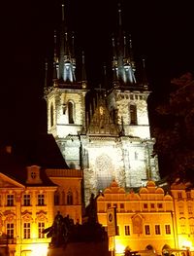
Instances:
[[[27,184],[27,166],[40,166],[41,184]],[[55,186],[46,169],[69,169],[51,134],[20,139],[0,149],[0,172],[26,186]]]

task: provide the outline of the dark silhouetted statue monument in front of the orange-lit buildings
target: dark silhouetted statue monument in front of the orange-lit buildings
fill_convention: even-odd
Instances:
[[[74,224],[69,216],[57,212],[51,227],[44,231],[49,243],[48,256],[109,256],[108,236],[97,221],[96,200],[91,195],[86,221]]]

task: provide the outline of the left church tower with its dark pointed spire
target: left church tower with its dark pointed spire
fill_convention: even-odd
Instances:
[[[82,54],[81,81],[77,81],[74,33],[67,27],[66,6],[61,6],[61,27],[54,31],[52,85],[45,86],[48,105],[48,132],[52,133],[66,163],[80,168],[78,134],[85,129],[85,94],[87,82]],[[59,49],[57,46],[59,45]],[[77,143],[71,143],[77,141]],[[76,157],[77,156],[77,157]]]

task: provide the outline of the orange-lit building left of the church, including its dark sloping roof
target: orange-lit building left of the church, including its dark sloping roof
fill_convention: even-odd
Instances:
[[[52,226],[58,211],[75,224],[81,224],[82,172],[65,165],[57,145],[53,146],[52,136],[44,136],[42,140],[39,137],[37,143],[36,147],[29,140],[20,143],[22,153],[30,148],[30,154],[25,156],[17,147],[0,149],[0,255],[3,256],[47,255],[50,238],[43,231]]]

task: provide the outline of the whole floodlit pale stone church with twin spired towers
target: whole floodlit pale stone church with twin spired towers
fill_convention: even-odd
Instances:
[[[45,85],[48,132],[67,165],[83,171],[84,201],[113,179],[125,189],[159,180],[147,113],[150,91],[144,75],[137,82],[132,40],[122,30],[120,6],[112,39],[113,81],[109,82],[105,69],[97,89],[87,83],[83,53],[81,67],[77,66],[75,35],[67,27],[66,6],[61,9],[61,27],[54,32],[52,83]],[[47,64],[46,81],[48,72]]]

